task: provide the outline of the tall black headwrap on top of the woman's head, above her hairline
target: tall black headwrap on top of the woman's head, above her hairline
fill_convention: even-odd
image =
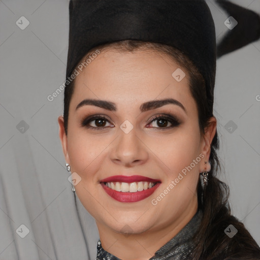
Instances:
[[[67,78],[100,44],[127,39],[163,43],[182,51],[199,69],[213,110],[216,36],[204,0],[70,0],[69,10]]]

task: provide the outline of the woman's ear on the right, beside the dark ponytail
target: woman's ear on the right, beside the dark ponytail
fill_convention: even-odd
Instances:
[[[202,153],[205,155],[203,159],[203,167],[204,161],[209,161],[209,156],[210,156],[210,145],[211,142],[215,136],[216,133],[216,126],[217,126],[217,120],[214,116],[212,116],[209,119],[209,125],[204,128],[205,134],[202,136]],[[206,169],[201,169],[201,171],[204,171]],[[210,169],[209,169],[210,170]]]

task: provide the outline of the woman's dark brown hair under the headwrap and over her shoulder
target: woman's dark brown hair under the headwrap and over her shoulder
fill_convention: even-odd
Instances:
[[[209,119],[213,116],[213,101],[209,101],[207,98],[203,76],[184,53],[169,45],[137,40],[124,40],[95,47],[95,49],[100,51],[115,49],[128,52],[134,52],[141,48],[166,54],[168,58],[172,58],[185,71],[189,79],[190,92],[197,104],[200,131],[202,135],[205,134],[205,127],[209,125]],[[66,134],[68,133],[69,104],[73,94],[73,85],[74,81],[66,87],[64,92],[63,116]],[[218,149],[219,139],[216,131],[211,143],[209,157],[211,170],[209,172],[208,186],[203,190],[201,182],[198,182],[198,205],[203,212],[203,217],[200,228],[194,236],[196,246],[192,251],[190,259],[260,259],[259,246],[245,229],[243,223],[231,215],[228,203],[229,187],[218,179],[219,173],[222,172],[217,155]],[[238,233],[233,238],[228,237],[224,233],[224,230],[230,224],[234,225],[238,230]]]

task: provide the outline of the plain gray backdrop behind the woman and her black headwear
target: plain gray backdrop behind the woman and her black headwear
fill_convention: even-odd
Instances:
[[[260,13],[260,0],[232,2]],[[228,15],[207,3],[219,41]],[[29,21],[23,30],[21,16]],[[77,215],[58,138],[63,93],[47,100],[66,77],[69,1],[2,0],[0,17],[0,259],[95,259],[98,231],[78,198]],[[260,41],[221,57],[214,104],[221,179],[230,185],[233,214],[258,244],[259,68]]]

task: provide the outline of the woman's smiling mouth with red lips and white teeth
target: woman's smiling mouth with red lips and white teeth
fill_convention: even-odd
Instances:
[[[112,176],[100,181],[106,193],[119,202],[138,202],[151,196],[159,180],[144,176]]]

